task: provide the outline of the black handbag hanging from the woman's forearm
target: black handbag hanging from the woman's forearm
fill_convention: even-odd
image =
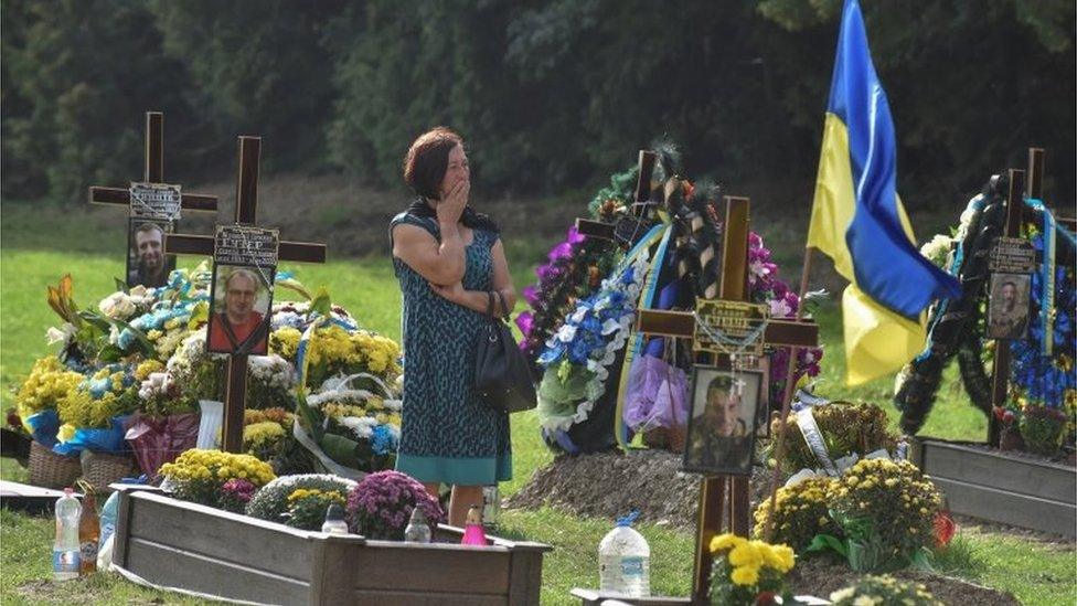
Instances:
[[[504,318],[493,313],[493,293],[488,293],[489,323],[479,334],[474,348],[474,392],[489,406],[506,413],[530,411],[538,405],[531,365],[512,338],[505,323],[509,309],[504,295],[498,293]]]

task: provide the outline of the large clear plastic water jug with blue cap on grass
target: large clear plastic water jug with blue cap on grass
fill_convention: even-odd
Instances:
[[[651,547],[647,539],[632,530],[638,511],[617,520],[598,544],[598,578],[603,592],[630,597],[651,595]]]

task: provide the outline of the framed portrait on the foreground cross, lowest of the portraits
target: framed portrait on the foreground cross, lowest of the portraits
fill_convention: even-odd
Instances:
[[[705,475],[750,476],[763,371],[695,366],[692,414],[682,468]]]

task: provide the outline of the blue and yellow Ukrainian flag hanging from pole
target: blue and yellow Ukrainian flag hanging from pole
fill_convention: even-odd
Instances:
[[[900,369],[924,349],[924,309],[957,280],[920,255],[895,191],[897,146],[856,0],[842,11],[808,246],[851,283],[842,296],[846,382]]]

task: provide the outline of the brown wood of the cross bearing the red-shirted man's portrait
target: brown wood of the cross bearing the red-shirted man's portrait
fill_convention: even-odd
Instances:
[[[258,160],[260,137],[239,137],[239,172],[236,178],[235,222],[255,225],[258,208]],[[213,236],[167,234],[164,251],[180,255],[212,255]],[[277,258],[302,263],[326,263],[326,245],[306,242],[280,242]],[[228,357],[228,380],[224,395],[224,450],[243,449],[243,412],[247,395],[247,354]]]

